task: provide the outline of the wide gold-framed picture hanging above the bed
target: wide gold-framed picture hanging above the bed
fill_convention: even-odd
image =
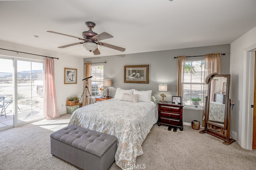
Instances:
[[[148,83],[149,65],[124,66],[125,83]]]

